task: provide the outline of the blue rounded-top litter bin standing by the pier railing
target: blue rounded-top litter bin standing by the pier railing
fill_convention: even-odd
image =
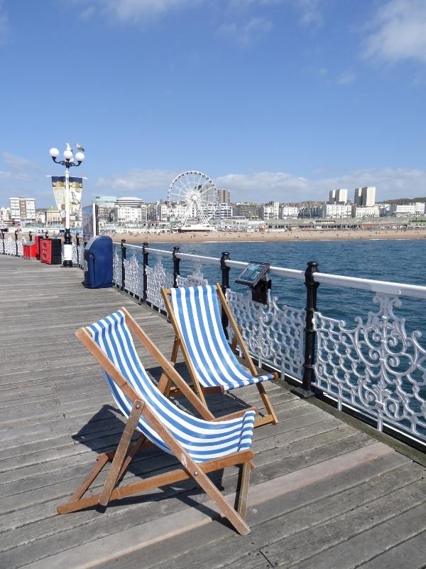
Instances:
[[[84,287],[112,287],[112,277],[112,239],[107,235],[96,235],[84,248]]]

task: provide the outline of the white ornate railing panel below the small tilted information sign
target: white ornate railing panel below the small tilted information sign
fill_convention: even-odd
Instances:
[[[302,378],[305,311],[278,304],[271,292],[268,292],[268,304],[253,302],[251,292],[244,294],[228,289],[226,298],[258,365],[266,363],[284,374]],[[228,331],[231,339],[231,326]]]

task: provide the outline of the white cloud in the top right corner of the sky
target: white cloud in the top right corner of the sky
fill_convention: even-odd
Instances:
[[[390,0],[370,22],[364,57],[395,62],[402,59],[426,63],[426,1]]]

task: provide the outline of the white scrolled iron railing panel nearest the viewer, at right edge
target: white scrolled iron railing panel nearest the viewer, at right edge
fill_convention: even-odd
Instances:
[[[426,351],[420,331],[408,334],[395,315],[400,298],[376,293],[376,312],[356,326],[316,313],[315,385],[377,420],[426,440]]]

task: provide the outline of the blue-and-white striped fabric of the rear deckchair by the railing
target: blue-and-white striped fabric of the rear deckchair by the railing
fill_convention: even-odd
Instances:
[[[271,373],[252,376],[236,359],[226,340],[214,286],[170,289],[182,340],[203,387],[230,390],[273,379]]]

